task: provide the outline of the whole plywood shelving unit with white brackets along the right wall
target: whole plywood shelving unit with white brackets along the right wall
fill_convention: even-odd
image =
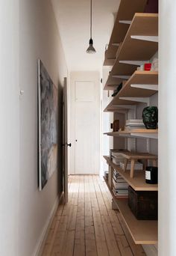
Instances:
[[[126,9],[133,8],[131,1],[122,1]],[[122,2],[119,7],[122,7]],[[136,3],[139,1],[136,1]],[[140,1],[145,7],[146,1]],[[141,5],[142,8],[142,5]],[[157,13],[140,13],[134,10],[131,19],[123,18],[117,14],[116,23],[113,33],[110,37],[110,44],[106,52],[104,65],[113,64],[112,70],[108,76],[104,90],[115,90],[123,81],[121,91],[116,94],[104,112],[124,113],[128,118],[128,112],[136,112],[136,106],[139,103],[150,104],[150,97],[158,91],[158,73],[156,71],[141,71],[137,67],[147,63],[154,56],[158,49],[158,14]],[[122,11],[122,10],[121,10]],[[126,20],[128,24],[120,23],[119,20]],[[131,22],[130,22],[131,20]],[[125,27],[126,25],[126,27]],[[124,26],[124,27],[122,27]],[[119,35],[123,31],[123,36]],[[127,29],[128,28],[128,29]],[[114,43],[121,43],[116,54],[118,46]],[[113,61],[112,61],[113,60]],[[130,115],[131,115],[130,112]],[[136,115],[134,115],[136,116]],[[128,138],[156,138],[158,137],[157,129],[131,129],[119,132],[105,132],[104,134],[114,137],[125,137],[125,143]],[[149,150],[148,150],[149,152]],[[145,171],[136,171],[134,176],[130,170],[124,171],[119,165],[113,163],[109,156],[104,156],[109,165],[109,177],[107,186],[113,195],[113,170],[116,170],[124,180],[136,191],[157,191],[158,186],[155,184],[145,183]],[[145,163],[146,164],[146,163]],[[157,221],[138,220],[128,207],[128,200],[116,198],[113,195],[113,204],[119,209],[122,219],[128,228],[128,231],[136,244],[156,244],[157,243]]]

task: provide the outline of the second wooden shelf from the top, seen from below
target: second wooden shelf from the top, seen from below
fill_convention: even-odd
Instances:
[[[114,85],[111,78],[114,76],[131,76],[136,70],[136,64],[125,64],[120,61],[148,61],[157,52],[158,43],[149,40],[137,40],[133,36],[151,36],[158,35],[158,14],[156,13],[136,13],[131,22],[131,26],[122,43],[119,55],[113,65],[110,76],[107,79],[104,89]],[[116,85],[121,80],[116,79]]]

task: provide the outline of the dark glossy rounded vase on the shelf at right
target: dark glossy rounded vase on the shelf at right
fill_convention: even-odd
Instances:
[[[158,109],[157,106],[148,106],[143,109],[142,120],[146,129],[157,129]]]

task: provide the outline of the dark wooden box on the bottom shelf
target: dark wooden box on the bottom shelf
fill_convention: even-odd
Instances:
[[[129,186],[128,206],[136,219],[157,220],[157,191],[135,191]]]

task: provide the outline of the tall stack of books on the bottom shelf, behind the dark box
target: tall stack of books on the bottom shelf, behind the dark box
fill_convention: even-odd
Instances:
[[[128,183],[116,170],[113,171],[113,193],[117,198],[128,198]]]

